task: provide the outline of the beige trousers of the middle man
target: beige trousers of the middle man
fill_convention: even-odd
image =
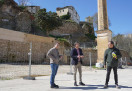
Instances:
[[[76,74],[77,74],[77,69],[79,72],[79,81],[82,82],[82,64],[80,62],[78,62],[77,65],[73,66],[73,70],[74,70],[74,81],[77,82],[76,80]]]

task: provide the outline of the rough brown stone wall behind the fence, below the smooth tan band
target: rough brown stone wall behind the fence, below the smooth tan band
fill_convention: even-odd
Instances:
[[[29,42],[19,42],[0,39],[0,63],[28,63]],[[32,42],[32,62],[35,64],[49,64],[49,58],[46,56],[48,50],[54,43]],[[62,64],[67,64],[67,56],[64,54],[64,47],[60,47],[59,52],[64,55]]]

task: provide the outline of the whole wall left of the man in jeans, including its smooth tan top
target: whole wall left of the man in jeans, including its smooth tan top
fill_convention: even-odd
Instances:
[[[43,63],[47,60],[46,53],[53,47],[55,40],[0,28],[1,62],[28,62],[30,42],[32,62]]]

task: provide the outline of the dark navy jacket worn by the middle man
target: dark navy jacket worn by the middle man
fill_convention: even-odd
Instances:
[[[83,55],[82,49],[79,48],[79,52],[80,52],[80,56]],[[78,64],[78,53],[77,53],[77,49],[73,48],[71,51],[71,57],[72,57],[72,65],[77,65]],[[82,58],[80,59],[80,62],[82,64]]]

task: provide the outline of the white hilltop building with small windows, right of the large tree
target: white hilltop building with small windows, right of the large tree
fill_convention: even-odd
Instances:
[[[73,6],[66,6],[63,8],[56,9],[56,13],[58,16],[66,15],[68,12],[71,15],[71,20],[79,24],[80,16],[78,15],[77,11],[75,10]]]

